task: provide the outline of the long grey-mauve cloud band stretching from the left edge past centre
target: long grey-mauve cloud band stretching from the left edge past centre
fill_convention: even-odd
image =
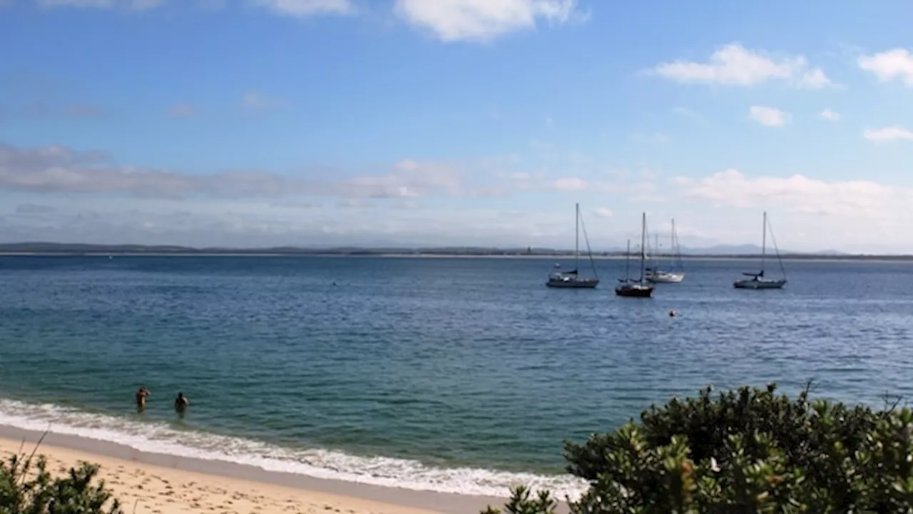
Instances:
[[[78,152],[56,145],[19,148],[4,144],[0,144],[0,189],[173,199],[423,198],[490,194],[487,187],[467,183],[462,169],[457,166],[411,159],[397,162],[384,173],[336,179],[278,175],[260,170],[191,175],[166,169],[121,166],[104,152]]]

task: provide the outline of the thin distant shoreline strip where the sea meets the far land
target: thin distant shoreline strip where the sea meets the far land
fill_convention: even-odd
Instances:
[[[370,251],[298,251],[298,252],[268,252],[257,250],[237,250],[224,252],[206,251],[175,251],[175,252],[106,252],[106,251],[0,251],[4,257],[338,257],[338,258],[383,258],[383,259],[534,259],[534,260],[567,260],[573,259],[571,252],[566,253],[484,253],[484,252],[370,252]],[[639,255],[632,254],[635,259]],[[669,260],[674,256],[656,255],[656,259]],[[758,260],[761,255],[682,255],[682,261],[752,261]],[[771,256],[768,256],[770,259]],[[775,258],[775,257],[774,257]],[[581,256],[582,260],[588,259]],[[603,253],[593,255],[595,261],[624,260],[624,253]],[[897,262],[913,263],[913,255],[813,255],[813,254],[786,254],[782,255],[783,261],[806,262]]]

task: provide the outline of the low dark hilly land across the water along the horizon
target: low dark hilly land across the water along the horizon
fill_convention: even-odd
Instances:
[[[335,256],[401,256],[401,257],[565,257],[572,250],[554,248],[488,248],[477,246],[441,247],[357,247],[340,246],[312,248],[275,246],[263,248],[197,248],[180,245],[89,244],[62,242],[0,243],[5,255],[335,255]],[[634,252],[632,252],[634,254]],[[624,250],[593,252],[595,258],[622,258]],[[657,258],[669,258],[666,252],[654,252]],[[682,249],[683,259],[752,259],[761,256],[761,248],[753,245],[715,246],[704,249]],[[770,254],[769,254],[770,257]],[[913,262],[913,255],[851,254],[835,251],[782,252],[782,259],[808,261],[897,261]]]

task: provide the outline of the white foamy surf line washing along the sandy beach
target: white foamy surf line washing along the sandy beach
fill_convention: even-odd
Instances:
[[[559,498],[577,498],[586,488],[585,482],[570,475],[542,476],[473,467],[434,467],[394,457],[289,448],[252,439],[176,430],[167,423],[131,421],[48,403],[0,400],[0,424],[122,444],[141,452],[225,461],[279,473],[383,487],[505,497],[509,494],[509,487],[523,484],[533,489],[550,489]]]

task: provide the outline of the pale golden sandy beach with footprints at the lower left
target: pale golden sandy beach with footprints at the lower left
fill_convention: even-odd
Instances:
[[[4,427],[0,437],[0,457],[4,460],[10,455],[31,453],[38,438],[37,433],[18,431]],[[16,436],[16,437],[14,437]],[[24,443],[25,442],[25,443]],[[60,443],[66,443],[67,446]],[[72,446],[96,445],[99,452],[90,452]],[[107,449],[105,449],[107,446]],[[420,491],[399,491],[383,488],[372,491],[360,484],[324,484],[323,490],[307,488],[309,477],[286,477],[299,479],[306,487],[289,487],[269,481],[260,480],[267,474],[257,476],[254,469],[224,468],[226,474],[241,475],[250,473],[250,479],[226,477],[220,474],[201,473],[178,467],[194,466],[193,459],[173,458],[168,460],[174,466],[149,464],[156,455],[132,451],[131,458],[117,458],[103,455],[112,448],[104,442],[70,438],[58,434],[48,434],[37,455],[47,457],[48,470],[57,475],[80,462],[100,465],[99,477],[104,480],[115,498],[121,500],[122,509],[137,514],[180,513],[326,513],[341,512],[346,514],[433,514],[449,512],[477,512],[486,504],[486,498],[458,497],[456,495],[439,495]],[[162,455],[159,455],[161,458]],[[196,463],[199,465],[199,463]],[[224,467],[220,463],[209,463],[212,469]],[[327,492],[328,487],[342,489]],[[353,494],[344,492],[351,488]],[[410,496],[410,493],[413,493]],[[367,498],[365,498],[367,497]],[[373,497],[373,498],[372,498]],[[390,501],[387,501],[387,500]],[[488,498],[494,499],[494,498]],[[402,500],[402,501],[400,501]]]

